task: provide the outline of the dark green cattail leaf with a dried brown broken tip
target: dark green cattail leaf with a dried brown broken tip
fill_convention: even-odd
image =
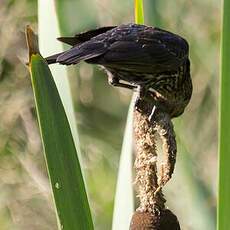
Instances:
[[[93,229],[70,126],[46,61],[27,28],[31,81],[59,229]]]

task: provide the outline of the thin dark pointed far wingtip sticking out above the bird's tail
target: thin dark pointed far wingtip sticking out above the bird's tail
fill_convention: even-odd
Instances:
[[[106,26],[100,27],[98,29],[89,30],[87,32],[76,34],[74,37],[60,37],[57,38],[59,41],[64,42],[68,45],[75,46],[90,40],[91,38],[103,34],[111,29],[114,29],[116,26]]]

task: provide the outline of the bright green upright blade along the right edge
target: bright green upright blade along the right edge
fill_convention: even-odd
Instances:
[[[217,229],[229,229],[230,213],[230,1],[222,1]]]

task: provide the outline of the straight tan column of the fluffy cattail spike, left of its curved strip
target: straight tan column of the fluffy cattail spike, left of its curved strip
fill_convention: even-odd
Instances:
[[[136,139],[136,184],[140,206],[138,211],[155,212],[164,209],[165,199],[159,191],[157,177],[157,152],[155,146],[155,130],[148,120],[148,116],[139,111],[134,112],[134,132]]]

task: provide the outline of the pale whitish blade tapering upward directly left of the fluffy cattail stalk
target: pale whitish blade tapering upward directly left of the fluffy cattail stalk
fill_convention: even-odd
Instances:
[[[135,97],[133,96],[129,106],[119,163],[116,195],[114,200],[113,230],[129,229],[130,220],[134,211],[134,196],[132,188],[134,102]]]

